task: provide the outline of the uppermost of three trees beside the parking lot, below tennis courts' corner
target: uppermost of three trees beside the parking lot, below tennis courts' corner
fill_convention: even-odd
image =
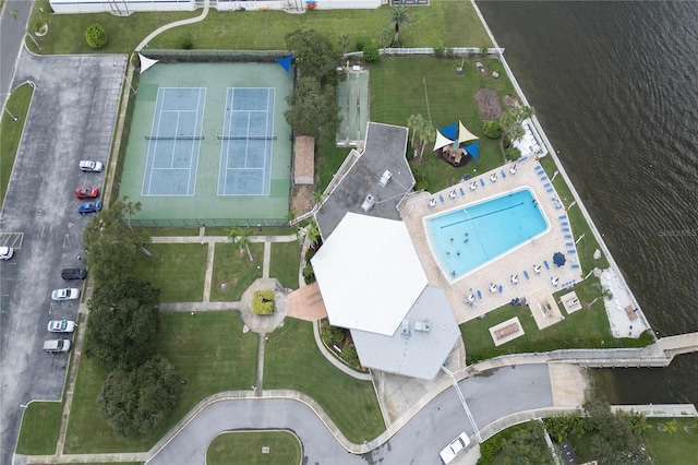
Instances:
[[[84,245],[89,252],[86,263],[98,286],[128,275],[139,252],[151,243],[147,231],[132,229],[122,219],[127,212],[140,207],[140,203],[120,199],[95,215],[85,228]]]

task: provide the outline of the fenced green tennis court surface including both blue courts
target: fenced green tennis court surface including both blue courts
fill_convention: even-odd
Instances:
[[[275,63],[158,63],[141,75],[119,195],[136,226],[279,225],[292,75]]]

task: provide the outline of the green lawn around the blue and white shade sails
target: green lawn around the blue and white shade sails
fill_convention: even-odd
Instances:
[[[500,72],[500,78],[481,76],[474,65],[476,61],[481,61],[490,70]],[[506,78],[502,63],[496,59],[467,59],[464,73],[457,75],[454,68],[460,63],[460,59],[400,57],[384,58],[370,65],[371,120],[407,126],[411,115],[422,115],[429,119],[431,112],[434,128],[460,120],[470,132],[480,136],[480,158],[464,167],[452,167],[438,159],[430,147],[424,151],[422,163],[413,166],[413,170],[424,177],[430,192],[458,182],[465,174],[480,174],[504,163],[500,141],[490,140],[482,133],[482,119],[478,112],[474,94],[480,87],[496,90],[502,108],[506,108],[504,97],[506,94],[515,94],[514,87]],[[408,147],[408,154],[411,153],[412,148]],[[411,159],[411,155],[409,158]]]

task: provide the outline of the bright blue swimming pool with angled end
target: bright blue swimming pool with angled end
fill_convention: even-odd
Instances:
[[[549,228],[529,189],[424,218],[426,238],[444,275],[456,282]]]

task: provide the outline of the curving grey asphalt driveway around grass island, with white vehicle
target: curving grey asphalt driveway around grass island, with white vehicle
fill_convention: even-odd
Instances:
[[[492,370],[459,383],[479,427],[513,413],[553,405],[545,365]],[[209,405],[148,462],[205,464],[206,450],[220,432],[287,429],[303,444],[304,464],[440,464],[438,452],[461,431],[474,431],[454,389],[441,393],[382,446],[364,455],[348,453],[303,403],[294,400],[229,400]]]

